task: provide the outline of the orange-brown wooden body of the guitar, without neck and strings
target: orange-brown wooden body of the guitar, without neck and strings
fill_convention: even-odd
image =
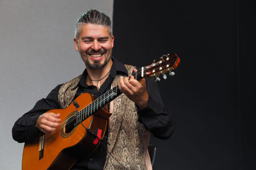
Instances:
[[[76,98],[76,102],[80,106],[78,111],[89,105],[94,100],[93,98],[88,93],[78,96]],[[69,170],[77,159],[92,153],[100,144],[100,141],[96,144],[93,143],[95,136],[88,133],[81,124],[69,130],[68,133],[65,131],[67,129],[66,122],[70,119],[76,119],[74,116],[76,107],[72,103],[65,109],[54,109],[47,112],[61,114],[60,128],[55,133],[44,135],[43,144],[41,143],[43,147],[41,148],[41,138],[25,143],[22,158],[23,170]],[[93,133],[96,132],[97,128],[102,130],[100,136],[103,138],[110,116],[111,113],[99,109],[82,123]]]

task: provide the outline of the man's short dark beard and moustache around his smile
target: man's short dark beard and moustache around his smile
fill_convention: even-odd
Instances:
[[[104,68],[108,64],[109,60],[111,59],[111,57],[108,57],[108,56],[111,56],[112,50],[106,51],[104,49],[101,49],[99,51],[94,51],[94,50],[86,51],[86,55],[92,55],[94,53],[103,53],[103,54],[105,54],[105,56],[107,56],[106,58],[104,58],[103,64],[101,64],[100,61],[97,61],[97,60],[94,61],[93,63],[90,63],[89,57],[87,57],[86,59],[83,59],[83,57],[82,57],[82,59],[86,65],[86,67],[93,69],[93,70],[98,70],[98,69]],[[81,55],[81,53],[80,53],[80,55]]]

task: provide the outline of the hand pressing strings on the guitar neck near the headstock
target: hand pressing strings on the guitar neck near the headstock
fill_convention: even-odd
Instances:
[[[134,72],[137,70],[134,68]],[[140,79],[137,81],[134,79],[133,76],[120,77],[119,83],[118,83],[120,91],[124,93],[128,99],[135,102],[135,104],[138,106],[138,108],[143,109],[147,107],[148,105],[148,92],[146,89],[146,82],[145,79]]]

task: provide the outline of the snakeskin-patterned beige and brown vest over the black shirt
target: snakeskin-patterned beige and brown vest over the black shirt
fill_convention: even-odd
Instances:
[[[129,76],[132,66],[125,65]],[[118,85],[121,74],[117,74],[112,82],[113,87]],[[67,108],[73,101],[81,75],[64,83],[58,93],[58,102],[61,108]],[[74,89],[75,88],[75,89]],[[145,170],[145,156],[143,146],[144,126],[138,122],[137,107],[125,94],[113,100],[113,114],[108,124],[108,151],[127,170]],[[107,153],[104,170],[121,170],[123,167]]]

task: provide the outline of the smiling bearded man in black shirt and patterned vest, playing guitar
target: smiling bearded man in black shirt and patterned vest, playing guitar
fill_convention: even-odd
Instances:
[[[81,15],[76,23],[74,43],[86,66],[83,74],[58,85],[46,99],[39,100],[20,117],[12,129],[13,139],[28,142],[40,133],[54,132],[61,122],[60,114],[46,111],[66,108],[83,93],[99,97],[118,85],[123,94],[108,104],[109,112],[113,113],[105,135],[110,153],[100,144],[93,153],[76,161],[72,170],[152,169],[147,150],[149,131],[157,138],[168,139],[175,126],[154,79],[129,78],[136,68],[111,57],[114,45],[111,20],[102,12],[88,10]]]

